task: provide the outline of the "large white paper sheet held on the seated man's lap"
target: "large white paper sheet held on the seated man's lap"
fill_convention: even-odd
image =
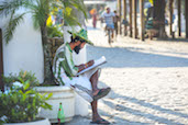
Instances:
[[[92,66],[90,66],[90,67],[88,67],[88,68],[81,70],[80,72],[78,72],[77,76],[78,76],[78,75],[81,75],[81,73],[84,73],[84,72],[86,72],[86,71],[89,71],[89,70],[91,70],[91,69],[93,69],[93,68],[96,68],[96,67],[98,67],[98,66],[100,66],[100,65],[103,65],[103,64],[106,64],[106,63],[107,63],[106,57],[102,56],[101,58],[96,59]]]

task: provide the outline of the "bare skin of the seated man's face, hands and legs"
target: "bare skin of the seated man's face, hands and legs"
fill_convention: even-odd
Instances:
[[[76,43],[69,43],[71,50],[74,50],[74,48],[75,48],[76,46],[78,46],[78,45],[80,45],[80,49],[81,49],[81,48],[85,47],[85,44],[86,44],[86,43],[81,43],[80,41],[78,41],[78,42],[76,42]],[[88,68],[88,67],[92,66],[93,63],[95,63],[93,60],[90,60],[90,61],[88,61],[88,63],[86,63],[86,64],[81,64],[81,65],[79,65],[79,66],[76,66],[76,67],[78,67],[78,69],[79,69],[78,72],[81,71],[81,70],[84,70],[85,68]],[[93,94],[93,95],[97,95],[98,92],[99,92],[99,90],[100,90],[100,89],[97,87],[97,84],[98,84],[98,78],[99,78],[98,75],[99,75],[98,71],[96,71],[96,72],[91,76],[91,78],[90,78],[90,82],[91,82],[91,87],[92,87],[92,94]],[[97,110],[98,101],[92,101],[90,104],[91,104],[91,109],[92,109],[92,122],[102,120],[102,118],[100,117],[99,113],[98,113],[98,110]],[[106,123],[106,122],[103,122],[103,123]]]

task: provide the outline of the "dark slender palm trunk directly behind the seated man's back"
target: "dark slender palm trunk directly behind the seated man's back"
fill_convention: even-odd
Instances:
[[[41,26],[43,53],[44,53],[44,83],[52,84],[53,72],[52,72],[52,54],[51,46],[47,39],[46,22]],[[53,82],[54,83],[54,82]]]

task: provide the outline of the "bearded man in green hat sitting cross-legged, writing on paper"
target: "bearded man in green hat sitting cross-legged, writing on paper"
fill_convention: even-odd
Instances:
[[[87,37],[87,31],[80,30],[78,33],[68,32],[71,34],[71,42],[65,43],[57,50],[53,63],[53,72],[56,81],[60,86],[73,88],[79,95],[90,102],[92,109],[93,124],[110,124],[108,121],[100,117],[97,110],[98,100],[106,96],[110,92],[110,88],[99,89],[98,78],[99,68],[93,68],[85,73],[77,73],[93,65],[93,60],[86,64],[75,66],[73,61],[73,50],[79,54],[86,43],[93,45]]]

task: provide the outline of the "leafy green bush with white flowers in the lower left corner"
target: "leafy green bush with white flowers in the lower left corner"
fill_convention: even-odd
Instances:
[[[46,101],[52,96],[51,94],[41,94],[36,92],[33,88],[30,88],[34,79],[29,79],[30,75],[22,77],[10,77],[5,78],[7,81],[12,81],[16,79],[21,82],[23,87],[12,87],[9,91],[4,93],[0,91],[0,117],[5,117],[5,123],[22,123],[22,122],[32,122],[36,121],[36,115],[38,114],[38,109],[48,109],[52,110],[52,105],[46,103]],[[35,81],[35,80],[34,80]],[[0,121],[2,123],[2,121]]]

